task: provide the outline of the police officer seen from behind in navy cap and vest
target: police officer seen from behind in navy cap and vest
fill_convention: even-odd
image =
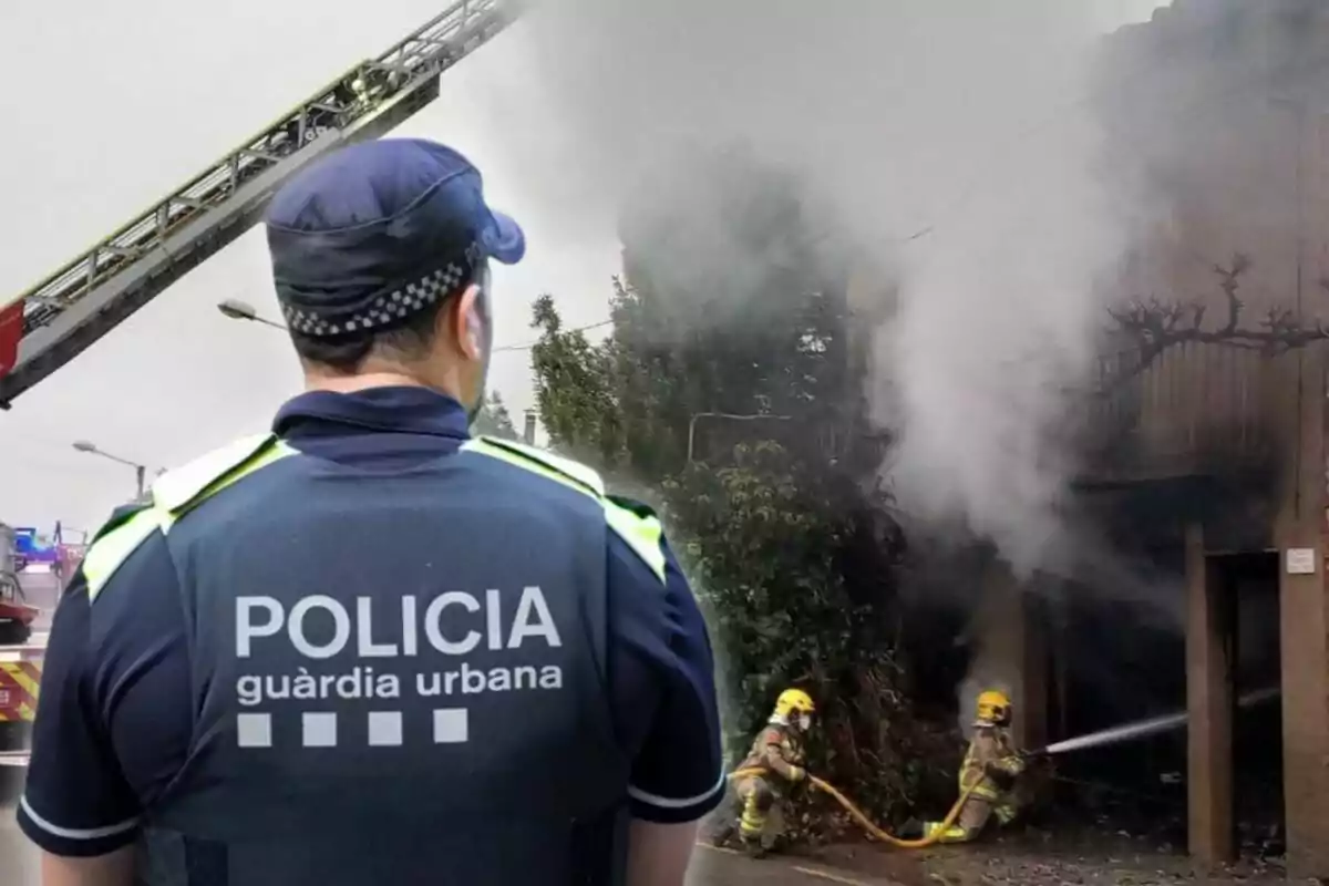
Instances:
[[[679,886],[724,777],[659,521],[468,434],[521,228],[392,139],[267,236],[307,392],[96,535],[19,810],[47,886]]]

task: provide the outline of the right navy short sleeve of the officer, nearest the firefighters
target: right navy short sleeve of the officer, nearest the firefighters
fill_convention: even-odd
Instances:
[[[724,798],[715,659],[706,622],[661,539],[664,579],[621,538],[609,542],[610,681],[615,724],[633,754],[635,818],[702,818]]]

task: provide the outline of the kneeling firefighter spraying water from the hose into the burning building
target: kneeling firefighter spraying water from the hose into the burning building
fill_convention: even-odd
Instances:
[[[1015,820],[1015,780],[1025,772],[1025,758],[1010,737],[1011,703],[1005,692],[989,689],[978,695],[974,737],[969,741],[960,766],[960,790],[977,782],[960,810],[956,824],[941,834],[944,843],[966,843],[975,840],[993,817],[1006,826]],[[905,825],[902,836],[932,837],[942,822]]]

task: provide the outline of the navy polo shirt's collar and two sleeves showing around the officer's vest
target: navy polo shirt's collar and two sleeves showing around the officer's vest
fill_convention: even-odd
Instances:
[[[411,468],[466,441],[466,416],[424,388],[304,393],[274,429],[311,456]],[[674,554],[666,582],[614,533],[605,570],[607,660],[619,741],[634,760],[633,814],[695,821],[724,794],[714,658]],[[178,576],[153,534],[89,603],[81,573],[56,611],[19,824],[58,855],[98,855],[138,822],[181,770],[194,740],[191,667]]]

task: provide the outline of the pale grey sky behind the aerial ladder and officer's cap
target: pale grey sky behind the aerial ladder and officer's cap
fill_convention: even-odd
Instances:
[[[16,292],[149,206],[445,0],[7,0],[0,4],[0,291]],[[1154,0],[1090,0],[1103,27]],[[530,250],[496,271],[496,345],[529,341],[530,302],[553,292],[567,323],[607,316],[618,270],[611,219],[560,169],[577,163],[529,65],[524,25],[443,78],[399,135],[425,135],[481,167],[490,201]],[[57,46],[52,49],[52,46]],[[548,150],[545,150],[548,147]],[[544,157],[542,161],[533,158]],[[275,316],[260,231],[251,231],[0,413],[0,519],[94,529],[133,473],[74,452],[84,438],[155,470],[263,429],[298,392],[284,336],[226,320],[247,300]],[[494,356],[492,388],[530,405],[526,352]],[[520,418],[518,418],[520,421]]]

